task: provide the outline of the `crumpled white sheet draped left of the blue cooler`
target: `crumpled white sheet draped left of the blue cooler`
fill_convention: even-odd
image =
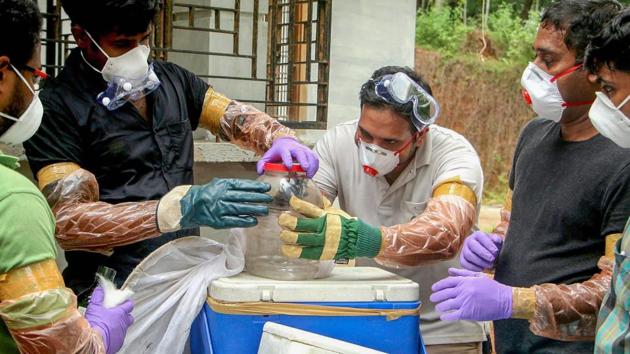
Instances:
[[[135,321],[119,353],[182,353],[210,282],[243,270],[243,241],[233,236],[224,245],[185,237],[142,261],[123,285],[134,292]]]

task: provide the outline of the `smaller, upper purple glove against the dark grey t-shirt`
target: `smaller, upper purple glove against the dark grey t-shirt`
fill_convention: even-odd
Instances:
[[[503,238],[495,234],[475,231],[464,240],[464,247],[459,255],[462,267],[480,272],[494,268],[494,261],[501,252]]]

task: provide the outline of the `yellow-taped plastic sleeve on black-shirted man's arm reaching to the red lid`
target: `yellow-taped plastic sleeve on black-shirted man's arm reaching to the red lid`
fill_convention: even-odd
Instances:
[[[295,133],[258,109],[231,100],[209,88],[204,99],[200,125],[222,140],[256,154],[269,150],[276,138]]]

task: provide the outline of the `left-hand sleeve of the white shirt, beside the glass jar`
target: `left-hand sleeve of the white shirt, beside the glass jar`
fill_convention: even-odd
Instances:
[[[335,130],[329,131],[321,138],[313,149],[319,158],[319,170],[313,177],[313,181],[319,189],[326,194],[330,201],[337,198],[337,173],[335,171],[336,159],[333,142],[335,141]]]

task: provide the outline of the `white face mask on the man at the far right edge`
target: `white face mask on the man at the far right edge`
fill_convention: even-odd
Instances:
[[[591,123],[601,135],[615,144],[630,148],[630,117],[621,111],[621,107],[630,102],[630,95],[619,106],[615,106],[602,92],[595,92],[595,95],[597,98],[588,112]]]

